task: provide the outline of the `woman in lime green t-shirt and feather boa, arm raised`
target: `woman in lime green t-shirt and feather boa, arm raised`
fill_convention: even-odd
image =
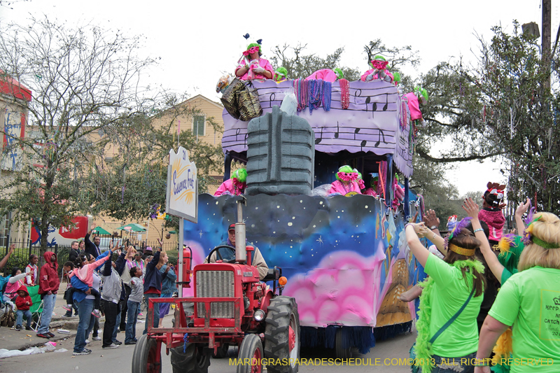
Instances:
[[[461,220],[449,235],[444,260],[430,255],[419,240],[419,237],[430,234],[423,223],[407,224],[405,227],[410,251],[429,276],[421,284],[423,291],[416,323],[418,337],[414,346],[416,366],[421,367],[423,373],[474,371],[471,362],[478,346],[477,315],[485,280],[482,275],[484,265],[475,256],[481,243],[465,229],[468,223],[467,219]],[[472,227],[476,230],[480,225],[473,223]],[[463,304],[466,306],[461,314],[430,344],[430,338]]]

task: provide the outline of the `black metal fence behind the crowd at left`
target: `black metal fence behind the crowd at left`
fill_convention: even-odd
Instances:
[[[102,238],[102,243],[100,245],[101,251],[109,250],[109,242],[113,239],[114,244],[118,243],[118,240],[121,239],[120,237],[112,237],[112,236],[100,236]],[[62,265],[64,262],[68,260],[68,256],[70,254],[70,247],[69,245],[59,245],[55,244],[54,246],[49,246],[45,251],[41,252],[41,246],[37,244],[33,244],[31,240],[29,241],[11,241],[9,237],[0,237],[0,260],[4,258],[8,254],[8,250],[10,245],[15,244],[15,249],[10,258],[8,259],[8,263],[6,266],[0,270],[3,271],[3,275],[6,276],[12,272],[13,267],[18,267],[25,271],[25,267],[29,264],[29,257],[34,254],[38,256],[38,263],[37,266],[41,268],[42,265],[45,264],[44,253],[46,251],[52,251],[57,255],[57,262],[58,262],[58,272],[59,276],[62,276]],[[123,239],[121,244],[125,246],[134,245],[137,250],[144,251],[144,248],[150,246],[152,248],[158,248],[160,244],[158,241],[155,242],[139,242],[134,241],[132,239]],[[163,242],[163,250],[170,251],[170,250],[177,250],[177,244],[174,241],[164,241]]]

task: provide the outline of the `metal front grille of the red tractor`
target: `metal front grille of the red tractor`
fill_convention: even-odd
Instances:
[[[198,271],[197,297],[235,297],[235,286],[232,271]],[[233,302],[214,302],[211,307],[211,318],[234,318]],[[198,317],[206,316],[206,307],[197,304]]]

